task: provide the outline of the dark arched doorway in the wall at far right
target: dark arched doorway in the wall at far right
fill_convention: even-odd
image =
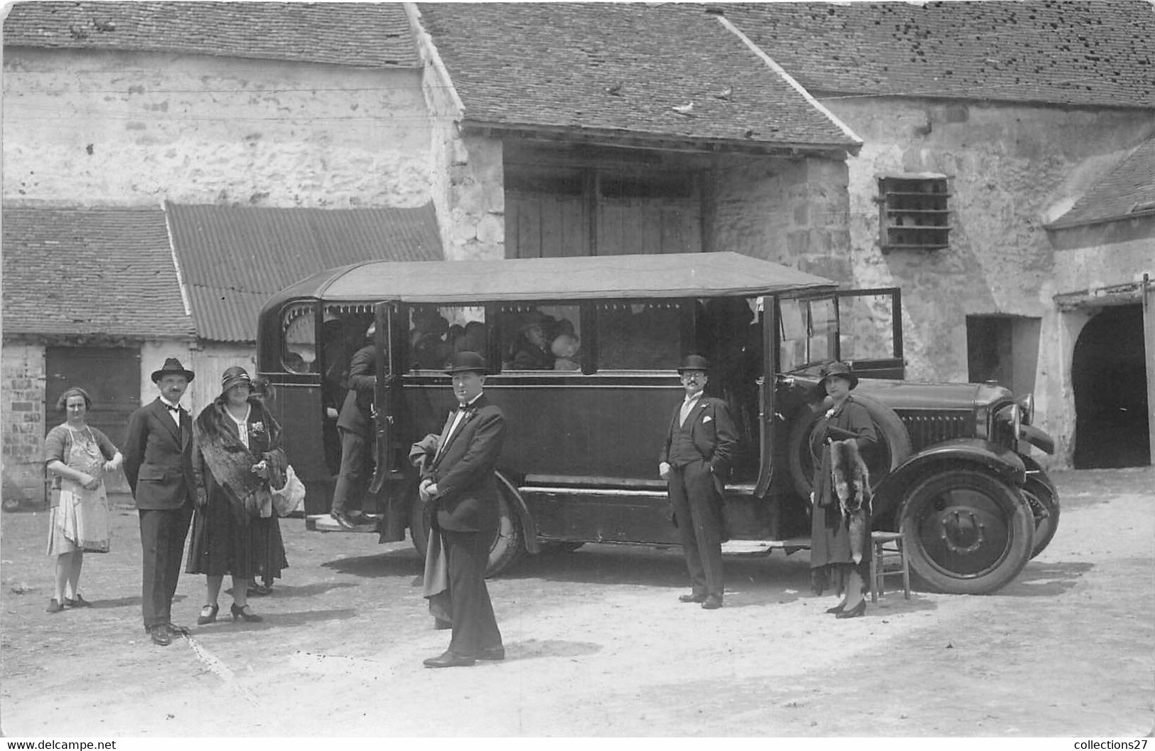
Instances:
[[[1141,305],[1105,307],[1075,342],[1075,469],[1150,463]]]

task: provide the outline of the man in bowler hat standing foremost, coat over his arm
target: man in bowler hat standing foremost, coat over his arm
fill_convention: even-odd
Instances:
[[[422,498],[433,504],[433,526],[446,556],[453,638],[430,668],[471,666],[502,660],[505,647],[493,617],[485,570],[498,529],[498,485],[493,475],[505,440],[505,417],[482,392],[485,360],[477,352],[456,352],[449,370],[457,409],[438,437],[413,446],[424,464]]]

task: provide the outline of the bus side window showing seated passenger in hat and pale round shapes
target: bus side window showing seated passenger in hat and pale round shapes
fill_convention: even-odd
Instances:
[[[502,305],[502,370],[581,370],[578,305]]]

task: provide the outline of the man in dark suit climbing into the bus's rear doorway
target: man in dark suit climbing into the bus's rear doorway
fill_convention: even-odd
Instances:
[[[365,339],[373,336],[370,326]],[[341,434],[341,470],[333,490],[329,515],[345,529],[363,521],[360,504],[365,495],[365,473],[370,464],[368,446],[373,437],[373,392],[377,388],[377,348],[372,342],[358,349],[349,362],[349,393],[337,417]]]

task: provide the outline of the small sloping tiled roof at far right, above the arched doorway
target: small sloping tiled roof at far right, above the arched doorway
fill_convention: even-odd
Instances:
[[[1106,222],[1140,213],[1155,213],[1155,137],[1141,143],[1048,229]]]

